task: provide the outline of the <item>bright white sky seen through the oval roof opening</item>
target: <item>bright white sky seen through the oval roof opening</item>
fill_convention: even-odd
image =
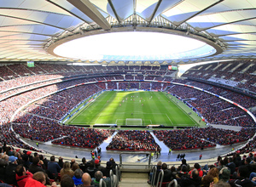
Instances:
[[[55,48],[54,53],[71,59],[179,59],[183,55],[207,54],[210,47],[189,37],[160,32],[111,32],[82,37]],[[212,47],[210,47],[210,50]],[[214,49],[214,48],[213,48]],[[201,53],[202,54],[202,53]]]

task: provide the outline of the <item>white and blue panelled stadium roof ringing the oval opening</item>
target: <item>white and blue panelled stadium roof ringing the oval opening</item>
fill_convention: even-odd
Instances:
[[[119,31],[191,37],[217,53],[191,59],[101,60],[111,65],[255,59],[255,0],[1,0],[0,61],[73,61],[53,53],[75,38]],[[108,48],[108,45],[106,46]]]

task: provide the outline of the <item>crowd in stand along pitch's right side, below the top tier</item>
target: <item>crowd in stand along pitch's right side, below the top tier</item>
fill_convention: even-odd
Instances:
[[[177,82],[176,80],[174,82]],[[204,83],[192,82],[187,80],[180,80],[179,82],[189,84],[198,88],[204,88],[205,90],[218,94],[224,98],[230,99],[237,104],[244,107],[253,107],[256,105],[256,99],[249,98],[242,94],[230,92],[224,88],[216,88]],[[230,104],[223,99],[201,92],[194,88],[183,87],[175,85],[172,88],[168,88],[167,92],[172,93],[180,99],[186,99],[186,103],[195,107],[196,111],[201,113],[207,119],[209,123],[235,125],[241,127],[254,127],[255,122],[253,118],[240,108]],[[211,107],[209,107],[209,105]],[[246,116],[246,117],[245,117]]]

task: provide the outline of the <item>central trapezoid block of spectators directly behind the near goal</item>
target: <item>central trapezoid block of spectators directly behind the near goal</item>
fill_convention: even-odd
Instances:
[[[108,144],[107,150],[160,150],[148,131],[119,130]]]

